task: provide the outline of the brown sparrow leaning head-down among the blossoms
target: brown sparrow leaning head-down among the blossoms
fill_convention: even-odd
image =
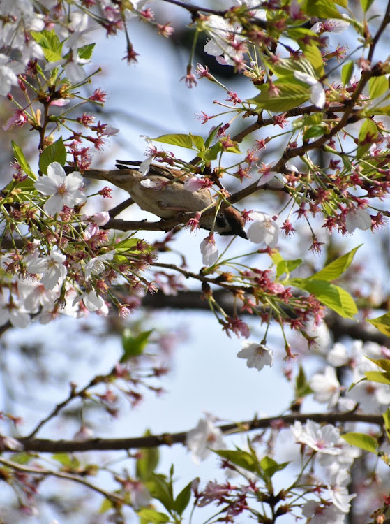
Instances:
[[[179,169],[172,169],[152,163],[147,175],[143,176],[137,167],[141,162],[117,161],[117,169],[88,169],[84,177],[106,180],[125,191],[144,211],[155,214],[160,219],[178,217],[180,213],[202,212],[199,226],[211,231],[213,228],[220,235],[238,235],[247,238],[241,213],[231,205],[217,213],[216,200],[209,189],[188,191],[184,182],[190,175]],[[215,220],[215,224],[214,224]],[[213,227],[214,226],[214,227]]]

